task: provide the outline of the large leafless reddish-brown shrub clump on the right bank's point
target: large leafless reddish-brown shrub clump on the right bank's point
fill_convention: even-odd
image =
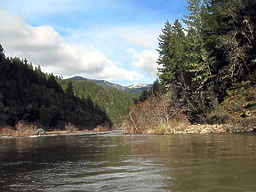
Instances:
[[[133,107],[122,128],[133,134],[168,134],[188,126],[187,117],[167,96],[153,96]]]

